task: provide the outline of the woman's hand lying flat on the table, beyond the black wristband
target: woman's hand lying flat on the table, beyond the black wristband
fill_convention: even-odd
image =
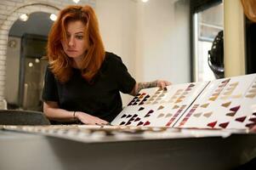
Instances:
[[[87,125],[106,125],[108,122],[100,119],[99,117],[96,116],[91,116],[87,113],[77,111],[76,112],[76,117],[79,121],[81,121],[84,124]]]

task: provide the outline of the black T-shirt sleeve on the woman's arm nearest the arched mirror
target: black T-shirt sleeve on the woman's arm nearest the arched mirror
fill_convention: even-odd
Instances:
[[[44,77],[42,99],[43,101],[59,101],[55,77],[48,67]]]

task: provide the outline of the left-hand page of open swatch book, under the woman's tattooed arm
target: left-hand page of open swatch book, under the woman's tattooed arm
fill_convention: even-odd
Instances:
[[[111,122],[113,125],[173,127],[208,82],[142,89]]]

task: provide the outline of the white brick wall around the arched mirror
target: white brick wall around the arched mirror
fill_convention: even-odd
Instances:
[[[8,35],[15,20],[20,14],[46,12],[58,14],[58,8],[76,4],[72,0],[1,0],[0,1],[0,99],[4,99],[5,62]],[[78,4],[95,6],[95,0],[80,0]]]

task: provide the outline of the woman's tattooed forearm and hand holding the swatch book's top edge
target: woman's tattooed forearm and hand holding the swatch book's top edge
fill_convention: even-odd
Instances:
[[[162,89],[165,89],[166,86],[171,85],[171,84],[172,84],[171,82],[163,81],[163,80],[156,80],[154,82],[136,82],[136,84],[130,94],[135,96],[143,88],[160,87]]]

